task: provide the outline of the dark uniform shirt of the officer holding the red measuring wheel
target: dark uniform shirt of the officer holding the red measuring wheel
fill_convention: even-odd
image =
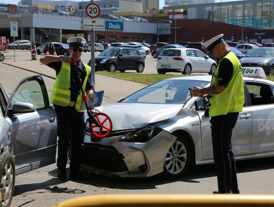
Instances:
[[[83,85],[83,81],[86,75],[85,66],[82,61],[76,64],[77,64],[78,72],[80,74],[81,85]],[[50,68],[53,68],[56,71],[56,76],[57,76],[61,70],[62,62],[61,61],[52,62],[52,63],[49,63],[47,66],[49,66]],[[71,63],[71,88],[69,89],[71,90],[71,101],[76,101],[78,97],[78,93],[81,90],[81,87],[78,83],[78,74],[75,70],[75,66],[72,63]],[[89,74],[87,78],[87,84],[85,88],[85,91],[89,91],[89,90],[95,90],[91,73]]]

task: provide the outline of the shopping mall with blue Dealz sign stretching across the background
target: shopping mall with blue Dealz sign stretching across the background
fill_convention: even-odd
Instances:
[[[11,38],[10,21],[17,21],[19,34],[16,39],[65,42],[67,38],[80,36],[89,42],[91,29],[84,26],[86,19],[91,21],[85,10],[89,3],[44,0],[22,0],[18,5],[0,3],[0,36]],[[99,5],[100,14],[142,17],[148,21],[105,19],[105,27],[95,29],[95,42],[198,42],[221,33],[231,41],[263,43],[273,42],[274,38],[274,0],[219,3],[214,0],[165,0],[168,6],[163,7],[164,14],[156,12],[158,0],[94,3]],[[164,20],[172,23],[162,23]]]

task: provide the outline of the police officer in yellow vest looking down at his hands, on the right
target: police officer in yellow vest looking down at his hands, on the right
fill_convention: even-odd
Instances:
[[[239,193],[231,135],[245,102],[242,68],[223,40],[223,34],[202,45],[219,61],[211,85],[204,88],[194,86],[191,90],[193,96],[211,97],[209,114],[218,179],[218,191],[213,193]]]

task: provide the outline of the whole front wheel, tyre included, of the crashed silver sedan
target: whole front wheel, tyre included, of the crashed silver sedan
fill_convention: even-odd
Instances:
[[[187,140],[177,134],[177,139],[170,146],[164,161],[163,177],[167,180],[180,178],[190,164],[190,147]]]

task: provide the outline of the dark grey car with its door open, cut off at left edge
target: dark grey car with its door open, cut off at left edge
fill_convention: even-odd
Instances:
[[[10,206],[18,174],[55,163],[56,113],[42,76],[21,80],[10,98],[0,84],[0,140],[1,206]]]

